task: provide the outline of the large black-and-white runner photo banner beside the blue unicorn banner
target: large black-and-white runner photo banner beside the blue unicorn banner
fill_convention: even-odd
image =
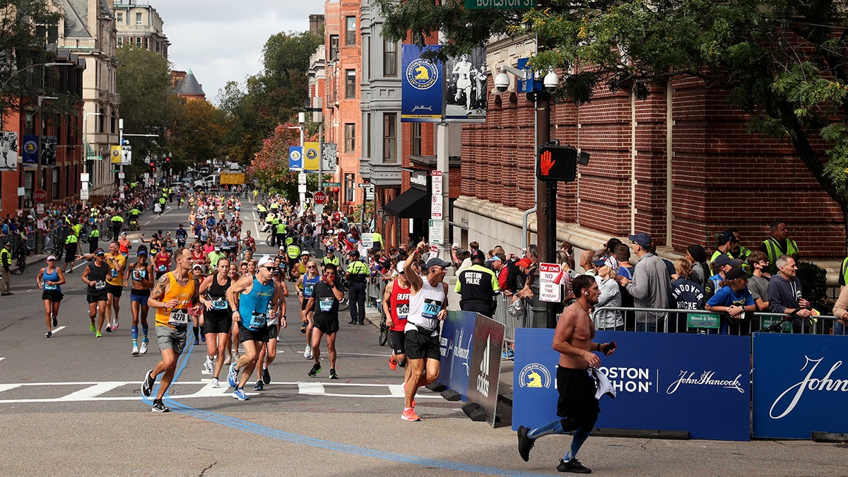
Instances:
[[[486,48],[449,59],[444,72],[444,121],[486,122]]]

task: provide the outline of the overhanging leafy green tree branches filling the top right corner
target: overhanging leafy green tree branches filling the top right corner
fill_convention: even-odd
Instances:
[[[574,71],[564,94],[577,102],[598,87],[639,98],[679,76],[722,87],[750,115],[751,130],[787,141],[848,225],[848,28],[833,0],[548,0],[525,11],[466,10],[462,0],[377,0],[385,34],[423,45],[449,42],[442,59],[492,36],[535,36],[536,70]],[[541,2],[539,2],[541,3]],[[821,145],[823,144],[823,146]]]

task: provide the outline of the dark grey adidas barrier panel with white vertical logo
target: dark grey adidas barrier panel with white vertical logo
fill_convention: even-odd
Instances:
[[[468,378],[468,402],[475,402],[486,412],[486,422],[494,427],[498,410],[500,353],[504,347],[506,326],[477,313],[474,323],[476,339],[471,345],[471,375]]]

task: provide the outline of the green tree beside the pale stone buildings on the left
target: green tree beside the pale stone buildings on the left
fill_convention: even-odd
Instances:
[[[148,170],[148,160],[162,155],[166,142],[165,123],[173,114],[169,103],[170,65],[160,54],[134,46],[118,48],[120,64],[115,81],[120,94],[120,117],[127,134],[156,134],[158,137],[126,136],[132,146],[131,175]]]

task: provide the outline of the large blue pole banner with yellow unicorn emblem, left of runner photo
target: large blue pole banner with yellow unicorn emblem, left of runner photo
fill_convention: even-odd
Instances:
[[[442,62],[421,58],[423,51],[442,48],[431,45],[424,50],[416,45],[400,46],[404,82],[401,87],[400,121],[442,121],[444,75]]]

